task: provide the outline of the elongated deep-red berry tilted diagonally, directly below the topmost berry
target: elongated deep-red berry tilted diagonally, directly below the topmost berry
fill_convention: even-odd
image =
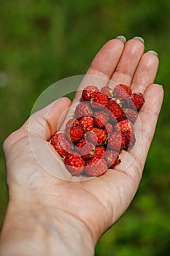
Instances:
[[[121,121],[123,119],[124,113],[120,105],[117,104],[115,99],[109,99],[107,102],[107,109],[109,110],[109,116],[111,120]],[[112,116],[111,116],[112,114]]]

